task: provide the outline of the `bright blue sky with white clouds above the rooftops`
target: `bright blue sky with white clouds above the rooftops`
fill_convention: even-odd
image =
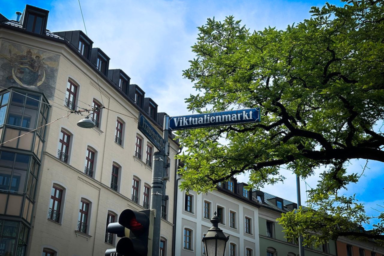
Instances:
[[[197,26],[208,17],[223,20],[233,15],[250,30],[271,26],[284,29],[288,24],[309,18],[311,6],[325,0],[80,0],[87,35],[93,47],[109,57],[109,68],[121,68],[169,115],[187,114],[184,98],[195,94],[192,83],[183,79],[182,70],[194,57],[190,46],[196,41]],[[338,0],[329,3],[341,5]],[[25,4],[49,10],[47,29],[51,31],[83,30],[78,0],[0,0],[0,13],[15,19]],[[365,161],[352,161],[349,172],[361,173]],[[358,184],[348,186],[345,194],[356,194],[371,215],[384,210],[383,167],[371,161]],[[319,170],[322,171],[322,170]],[[283,184],[262,190],[296,201],[295,176],[282,170]],[[315,187],[318,176],[301,180],[301,201],[305,188]],[[239,176],[246,182],[246,176]],[[287,192],[289,191],[289,192]],[[369,228],[370,225],[366,225]]]

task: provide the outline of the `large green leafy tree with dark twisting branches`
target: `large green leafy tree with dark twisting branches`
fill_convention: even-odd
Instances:
[[[198,27],[196,57],[183,71],[198,91],[186,99],[188,109],[259,106],[261,122],[179,131],[187,148],[179,155],[182,189],[211,190],[245,172],[249,187],[262,187],[283,179],[281,166],[303,178],[321,168],[308,207],[281,217],[287,236],[384,239],[382,222],[360,232],[370,217],[353,197],[338,194],[358,181],[346,173],[350,159],[384,162],[384,3],[344,2],[312,7],[310,19],[284,30],[250,32],[233,16]]]

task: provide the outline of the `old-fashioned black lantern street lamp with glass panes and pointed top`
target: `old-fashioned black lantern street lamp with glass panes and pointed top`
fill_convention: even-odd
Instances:
[[[225,236],[222,230],[218,228],[217,224],[220,219],[217,217],[216,212],[213,213],[210,222],[212,227],[208,229],[206,235],[201,239],[204,243],[205,254],[206,256],[224,256],[229,235]]]

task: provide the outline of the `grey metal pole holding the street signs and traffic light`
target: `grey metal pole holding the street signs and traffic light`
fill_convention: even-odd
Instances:
[[[165,150],[164,152],[157,151],[153,153],[152,191],[150,195],[150,208],[155,210],[153,221],[152,256],[159,256],[160,252],[161,204],[163,199],[165,199],[166,181],[163,181],[163,175],[164,164],[166,164],[166,156],[168,155],[168,125],[169,116],[164,115],[163,139],[165,143]]]

